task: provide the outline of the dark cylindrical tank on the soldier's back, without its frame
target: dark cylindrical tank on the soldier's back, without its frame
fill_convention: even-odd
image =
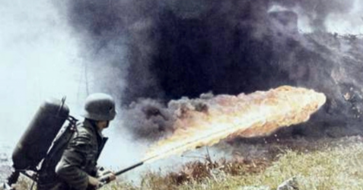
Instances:
[[[39,164],[69,112],[64,99],[47,99],[40,106],[13,151],[15,169],[34,169]]]

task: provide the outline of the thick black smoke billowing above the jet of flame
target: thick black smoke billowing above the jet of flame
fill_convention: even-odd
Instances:
[[[120,89],[125,107],[132,102],[144,102],[141,105],[147,105],[146,109],[155,108],[161,113],[165,106],[155,106],[153,101],[166,105],[171,99],[194,98],[210,91],[236,95],[294,85],[328,96],[326,106],[313,118],[325,127],[360,121],[357,107],[361,106],[363,80],[354,71],[362,70],[357,64],[362,59],[344,57],[344,53],[350,52],[340,50],[337,52],[341,56],[337,55],[319,41],[326,37],[335,41],[337,49],[352,46],[352,39],[325,33],[324,22],[329,14],[348,12],[353,2],[70,0],[66,12],[69,23],[84,42],[84,52],[101,60],[104,56],[112,57],[102,64],[122,68],[117,80],[126,84]],[[321,37],[300,34],[297,14],[269,12],[274,5],[291,10],[299,7]],[[118,48],[123,51],[116,51]],[[344,69],[349,62],[354,62],[353,73],[337,78],[344,75],[343,70],[351,70],[352,67]],[[355,94],[354,102],[344,97],[346,93]],[[145,103],[143,98],[153,100]],[[152,114],[147,117],[149,112],[145,114],[144,107],[133,105],[127,110],[144,113],[142,119],[155,118]],[[156,118],[165,119],[157,114]],[[159,125],[151,128],[165,129]],[[298,127],[295,131],[302,133]]]

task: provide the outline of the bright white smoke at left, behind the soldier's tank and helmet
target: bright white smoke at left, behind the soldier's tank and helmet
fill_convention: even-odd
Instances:
[[[118,99],[122,82],[115,78],[121,71],[101,65],[109,57],[94,63],[81,55],[77,36],[54,4],[48,0],[0,4],[0,142],[6,142],[10,151],[48,97],[67,96],[71,115],[78,119],[88,93],[106,91]],[[113,122],[105,131],[110,141],[100,164],[119,166],[135,160],[130,154],[134,146],[115,132],[120,127],[120,122]],[[128,154],[123,156],[124,152]]]

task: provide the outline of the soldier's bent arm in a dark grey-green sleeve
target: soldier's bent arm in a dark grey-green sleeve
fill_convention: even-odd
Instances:
[[[89,175],[82,170],[87,155],[91,154],[92,143],[90,137],[81,135],[75,137],[64,151],[56,166],[56,173],[76,190],[86,190]]]

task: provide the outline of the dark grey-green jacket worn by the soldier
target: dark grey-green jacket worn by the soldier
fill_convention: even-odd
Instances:
[[[88,176],[96,177],[97,159],[107,138],[103,138],[96,126],[85,119],[77,125],[67,148],[58,162],[56,181],[46,187],[48,190],[87,190]],[[41,190],[42,188],[38,188]]]

